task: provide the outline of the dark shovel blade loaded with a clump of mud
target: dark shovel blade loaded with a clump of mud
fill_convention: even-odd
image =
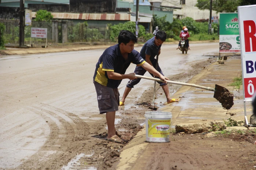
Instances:
[[[227,88],[215,84],[213,97],[222,103],[222,107],[230,109],[234,105],[234,94],[229,92]]]

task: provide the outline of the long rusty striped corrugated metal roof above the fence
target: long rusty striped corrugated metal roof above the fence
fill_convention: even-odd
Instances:
[[[131,20],[131,14],[108,14],[108,13],[67,13],[51,12],[54,19],[81,19],[81,20]],[[32,18],[36,18],[36,12],[32,12]]]

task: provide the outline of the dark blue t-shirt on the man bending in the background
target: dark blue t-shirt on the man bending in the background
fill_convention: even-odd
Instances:
[[[153,59],[156,57],[156,55],[158,54],[161,46],[156,46],[156,44],[154,44],[155,41],[155,37],[149,39],[142,47],[142,49],[140,50],[140,56],[145,60],[146,59],[146,54],[150,56],[150,61],[152,62]]]

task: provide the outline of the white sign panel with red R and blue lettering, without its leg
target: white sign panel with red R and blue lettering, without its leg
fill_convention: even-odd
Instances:
[[[244,101],[256,90],[256,5],[238,7]]]

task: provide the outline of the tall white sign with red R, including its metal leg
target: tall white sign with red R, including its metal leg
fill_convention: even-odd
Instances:
[[[237,11],[238,11],[238,18],[239,18],[239,37],[240,37],[240,48],[241,48],[241,67],[242,67],[242,82],[243,82],[243,95],[244,95],[244,114],[245,114],[244,126],[250,127],[250,126],[256,126],[256,125],[252,125],[248,123],[248,119],[246,115],[246,102],[248,101],[252,102],[252,98],[255,95],[256,87],[254,88],[252,79],[255,80],[255,85],[256,85],[256,71],[255,73],[253,73],[254,69],[251,63],[254,63],[253,61],[256,61],[256,60],[255,59],[253,61],[250,61],[250,60],[252,60],[251,58],[253,58],[253,53],[254,55],[256,54],[256,50],[253,51],[252,45],[254,41],[252,41],[252,38],[249,37],[249,41],[248,41],[248,36],[247,35],[245,36],[245,33],[246,34],[251,33],[252,28],[251,26],[248,26],[246,27],[246,30],[245,30],[244,24],[247,23],[248,21],[252,21],[256,26],[256,15],[255,15],[256,5],[238,6]],[[255,34],[253,34],[252,36],[255,36]],[[246,43],[245,43],[245,37],[246,37]],[[246,59],[248,61],[245,61]],[[247,88],[245,87],[245,82],[246,82]]]

